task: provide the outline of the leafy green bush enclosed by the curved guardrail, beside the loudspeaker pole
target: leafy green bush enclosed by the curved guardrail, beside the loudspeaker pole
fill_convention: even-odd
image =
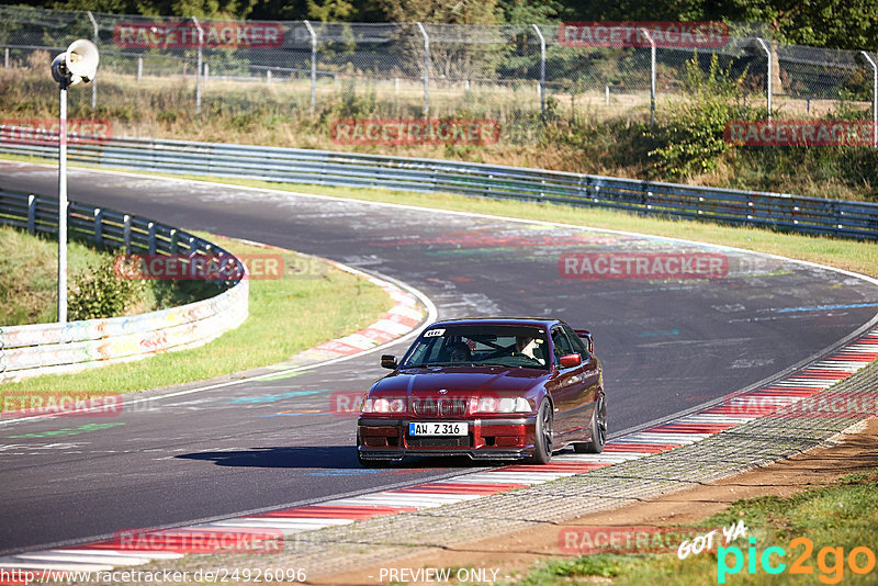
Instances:
[[[70,320],[115,317],[143,303],[145,282],[121,279],[113,260],[106,255],[99,264],[74,278],[68,302]]]

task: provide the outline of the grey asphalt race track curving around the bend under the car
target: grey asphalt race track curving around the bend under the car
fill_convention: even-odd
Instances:
[[[55,195],[57,171],[0,164],[0,188]],[[81,169],[70,171],[69,193],[398,279],[432,298],[440,317],[558,316],[589,328],[605,364],[611,435],[779,373],[846,338],[878,306],[878,286],[851,275],[657,238]],[[728,273],[562,277],[560,257],[582,252],[711,252],[724,256]],[[406,345],[397,346],[398,354]],[[0,553],[475,467],[359,467],[353,418],[328,413],[329,397],[365,391],[384,372],[372,353],[159,397],[119,417],[0,419]]]

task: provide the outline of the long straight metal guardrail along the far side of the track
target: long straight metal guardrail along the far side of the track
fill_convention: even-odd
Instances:
[[[0,126],[0,153],[56,157],[57,147],[50,140],[42,144],[37,140],[15,142],[15,137],[21,135],[19,131],[14,126]],[[99,137],[90,144],[83,142],[68,146],[68,158],[140,171],[545,201],[801,234],[878,239],[878,204],[875,203],[477,162]]]

